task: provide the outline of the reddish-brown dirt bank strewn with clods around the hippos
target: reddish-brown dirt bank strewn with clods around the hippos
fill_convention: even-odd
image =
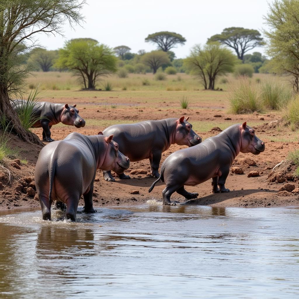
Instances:
[[[298,181],[294,181],[292,175],[286,177],[282,183],[277,180],[269,181],[268,175],[272,168],[284,160],[287,153],[291,150],[298,149],[298,132],[292,132],[289,128],[280,126],[279,113],[266,114],[249,114],[249,115],[231,115],[228,114],[227,107],[219,106],[219,103],[201,103],[200,108],[191,107],[190,109],[174,109],[168,108],[174,103],[164,102],[152,104],[150,101],[141,104],[130,102],[127,99],[118,99],[122,105],[114,109],[103,108],[103,106],[95,107],[88,106],[88,100],[84,98],[64,98],[53,99],[54,102],[67,102],[70,104],[77,103],[77,108],[80,110],[80,115],[88,119],[86,126],[81,129],[76,129],[71,126],[57,125],[51,129],[52,138],[60,140],[65,138],[71,132],[80,132],[86,135],[95,135],[98,131],[102,131],[105,127],[99,127],[96,122],[90,120],[103,121],[105,119],[117,120],[118,123],[136,122],[146,119],[163,119],[182,115],[189,116],[190,123],[242,123],[247,121],[249,126],[256,129],[256,135],[265,142],[266,150],[260,155],[242,154],[240,153],[234,161],[233,167],[242,168],[243,174],[230,173],[226,181],[226,187],[231,190],[229,193],[213,194],[211,192],[211,183],[206,181],[203,184],[195,187],[187,186],[186,189],[190,192],[198,192],[199,198],[187,202],[194,205],[213,205],[225,207],[273,207],[273,206],[297,206],[299,205],[298,193],[288,191],[280,191],[279,189],[286,183],[294,184],[295,188],[299,187]],[[98,97],[97,101],[101,99]],[[138,106],[139,105],[139,106]],[[83,107],[85,109],[83,109]],[[228,119],[227,119],[228,118]],[[226,120],[227,119],[227,120]],[[278,122],[277,122],[278,120]],[[90,123],[90,124],[89,124]],[[259,125],[256,125],[256,124]],[[222,125],[222,127],[225,125]],[[203,140],[219,133],[216,130],[199,131],[193,124],[193,129],[198,133]],[[33,129],[40,138],[42,137],[42,129]],[[11,180],[9,182],[8,172],[5,169],[0,169],[0,209],[13,209],[16,207],[39,207],[39,202],[34,194],[34,166],[38,158],[41,147],[28,145],[18,138],[14,137],[11,140],[12,147],[18,147],[21,157],[28,161],[28,164],[19,163],[19,161],[6,161],[6,168],[10,170]],[[170,149],[162,155],[161,163],[164,159],[183,146],[172,145]],[[255,166],[249,166],[245,159],[250,158],[256,163]],[[247,161],[248,162],[248,161]],[[251,161],[252,162],[252,161]],[[16,164],[18,166],[16,166]],[[19,165],[20,164],[20,165]],[[254,163],[250,163],[254,164]],[[17,167],[17,168],[16,168]],[[97,172],[96,181],[94,184],[94,207],[105,207],[115,205],[140,205],[161,204],[161,191],[164,189],[164,183],[156,184],[156,187],[151,193],[148,189],[155,180],[147,175],[149,171],[149,161],[143,160],[132,162],[129,170],[126,172],[131,176],[130,180],[119,180],[115,182],[107,182],[103,179],[101,171]],[[257,171],[258,176],[248,177],[248,173]],[[288,182],[286,180],[289,180]],[[279,181],[279,180],[278,180]],[[28,192],[28,188],[30,189]],[[283,188],[282,188],[283,189]],[[28,195],[30,193],[31,195]],[[184,202],[184,198],[175,193],[173,200]],[[79,205],[83,205],[83,200],[80,200]]]

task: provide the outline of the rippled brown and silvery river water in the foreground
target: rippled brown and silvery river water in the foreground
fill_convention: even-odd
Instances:
[[[0,213],[0,298],[294,298],[299,209]]]

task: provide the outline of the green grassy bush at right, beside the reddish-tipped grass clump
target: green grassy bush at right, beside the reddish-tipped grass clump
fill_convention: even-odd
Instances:
[[[291,90],[286,89],[283,84],[266,82],[261,86],[262,102],[269,109],[280,109],[288,103],[291,97]]]

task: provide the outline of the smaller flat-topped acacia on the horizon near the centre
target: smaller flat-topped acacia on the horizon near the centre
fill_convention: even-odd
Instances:
[[[146,42],[152,42],[158,45],[158,48],[164,52],[174,48],[177,44],[184,45],[186,39],[181,34],[169,31],[161,31],[149,34],[145,39]]]

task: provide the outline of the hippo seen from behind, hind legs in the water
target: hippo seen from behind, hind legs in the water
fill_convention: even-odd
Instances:
[[[76,220],[80,197],[84,197],[84,212],[94,213],[92,194],[97,169],[123,172],[130,160],[118,150],[113,135],[85,136],[77,132],[65,139],[47,144],[39,153],[34,179],[42,219],[51,220],[54,199],[67,206],[66,217]]]

